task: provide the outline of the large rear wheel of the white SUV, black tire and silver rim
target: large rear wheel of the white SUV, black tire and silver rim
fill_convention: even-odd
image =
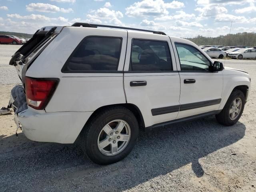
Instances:
[[[116,120],[120,120],[128,124],[128,126],[125,124],[123,128],[123,130],[125,131],[130,129],[130,138],[127,143],[123,141],[118,141],[118,135],[116,135],[115,132],[115,129],[117,128]],[[114,124],[114,126],[111,127],[112,129],[114,129],[114,131],[112,132],[111,130],[109,134],[106,134],[103,128],[109,128],[110,126],[107,126],[108,124]],[[110,136],[111,134],[112,136]],[[95,162],[96,164],[107,165],[118,162],[125,158],[132,151],[136,139],[138,138],[138,134],[139,125],[134,114],[130,110],[122,106],[112,107],[97,112],[92,118],[90,118],[89,122],[86,123],[80,134],[80,145],[82,147],[82,150],[93,162]],[[121,131],[119,135],[121,135]],[[104,136],[104,139],[100,141],[101,136]],[[120,136],[119,139],[121,139]],[[109,142],[109,144],[105,148],[100,149],[99,143],[102,141]],[[110,154],[113,151],[112,146],[114,146],[114,141],[116,145],[118,144],[116,150],[117,152],[116,154]],[[120,147],[122,145],[123,148]],[[118,148],[122,150],[118,152]],[[108,150],[110,150],[110,152]]]

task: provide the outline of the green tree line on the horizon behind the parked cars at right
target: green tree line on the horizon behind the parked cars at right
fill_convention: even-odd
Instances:
[[[254,32],[227,34],[218,37],[204,37],[198,35],[197,37],[186,39],[197,45],[256,46],[256,33]]]

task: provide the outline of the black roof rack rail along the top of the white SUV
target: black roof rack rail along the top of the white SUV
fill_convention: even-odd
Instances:
[[[164,32],[161,31],[152,31],[152,30],[145,30],[145,29],[136,29],[136,28],[129,28],[129,27],[119,27],[119,26],[111,26],[111,25],[99,25],[99,24],[89,24],[89,23],[74,23],[72,27],[106,27],[106,28],[116,28],[116,29],[127,29],[127,30],[135,30],[135,31],[144,31],[144,32],[151,32],[154,34],[166,35]]]

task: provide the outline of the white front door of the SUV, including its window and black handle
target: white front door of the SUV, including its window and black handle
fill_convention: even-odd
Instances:
[[[184,118],[218,110],[222,98],[222,72],[210,72],[210,59],[194,46],[175,42],[180,64],[180,112]]]

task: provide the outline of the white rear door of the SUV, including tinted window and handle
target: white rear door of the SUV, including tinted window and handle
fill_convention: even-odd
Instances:
[[[146,127],[176,119],[180,77],[168,36],[128,32],[124,89],[127,102],[140,109]]]

